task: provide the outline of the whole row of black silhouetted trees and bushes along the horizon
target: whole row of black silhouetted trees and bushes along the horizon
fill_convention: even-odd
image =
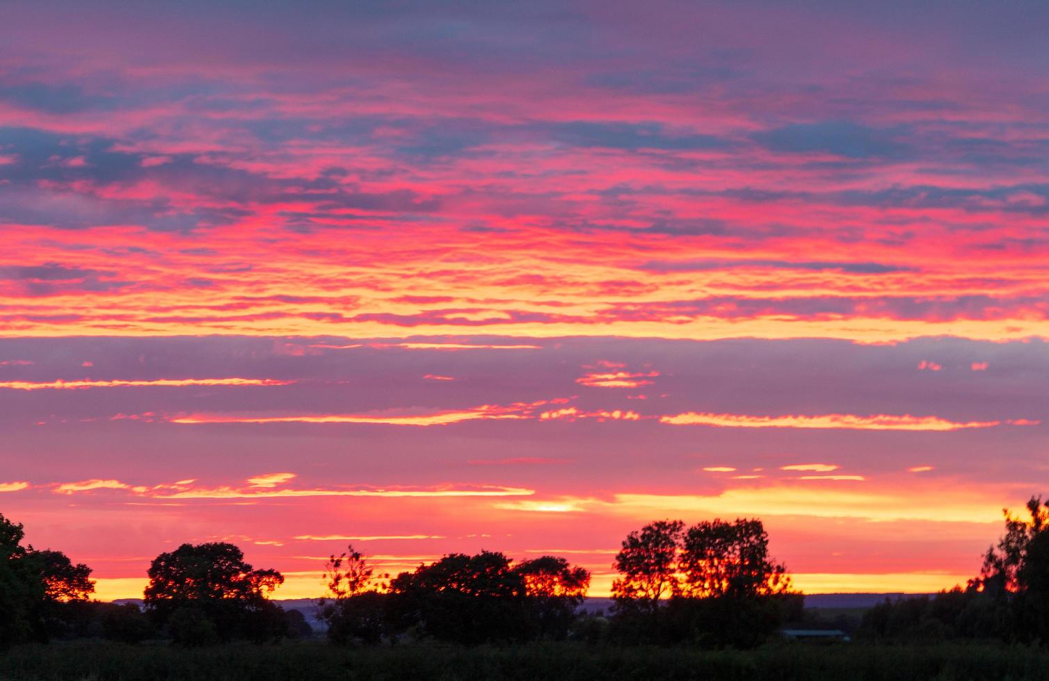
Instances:
[[[1027,509],[1030,520],[1006,514],[1005,535],[964,589],[886,601],[865,613],[859,635],[1049,641],[1049,502],[1031,499]],[[206,645],[313,633],[300,612],[270,599],[283,576],[253,568],[232,544],[184,544],[158,555],[140,608],[90,600],[90,568],[23,546],[23,534],[0,515],[0,647],[68,638]],[[350,546],[327,562],[317,614],[333,643],[365,645],[573,639],[752,647],[804,620],[804,596],[769,556],[758,520],[657,521],[623,540],[613,567],[609,612],[585,613],[591,575],[563,557],[450,553],[391,577],[377,575]]]

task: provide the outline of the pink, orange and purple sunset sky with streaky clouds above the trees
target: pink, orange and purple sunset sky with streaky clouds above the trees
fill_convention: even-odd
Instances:
[[[1049,492],[1049,5],[5,2],[0,512],[964,584]]]

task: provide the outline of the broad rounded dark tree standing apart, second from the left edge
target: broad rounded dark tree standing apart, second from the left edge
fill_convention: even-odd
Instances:
[[[260,625],[271,619],[276,621],[266,616],[278,610],[267,596],[284,583],[276,570],[254,569],[244,563],[239,548],[221,542],[183,544],[156,556],[147,574],[144,601],[157,623],[169,624],[179,610],[199,611],[200,617],[179,616],[179,624],[191,632],[189,638],[193,640],[206,638],[208,627],[200,623],[205,619],[213,622],[223,640],[234,636],[258,638]],[[279,636],[280,632],[273,634]]]

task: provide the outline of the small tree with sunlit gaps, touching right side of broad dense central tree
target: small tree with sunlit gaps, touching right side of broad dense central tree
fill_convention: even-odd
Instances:
[[[563,639],[590,587],[591,574],[562,557],[522,561],[513,571],[524,581],[526,609],[539,638]]]

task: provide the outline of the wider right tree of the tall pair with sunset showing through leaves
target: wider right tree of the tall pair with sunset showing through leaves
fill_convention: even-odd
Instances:
[[[787,569],[769,558],[759,520],[705,521],[688,528],[679,562],[680,594],[688,598],[750,597],[790,591]]]

